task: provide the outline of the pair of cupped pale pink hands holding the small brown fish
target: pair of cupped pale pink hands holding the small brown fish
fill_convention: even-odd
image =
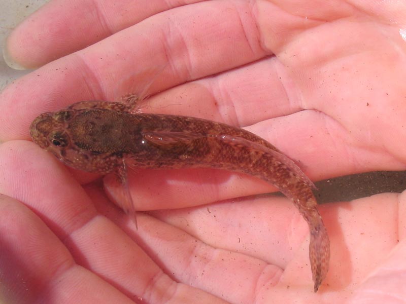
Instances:
[[[315,294],[307,224],[287,199],[253,197],[273,191],[268,184],[216,170],[130,172],[135,209],[149,211],[138,213],[136,230],[98,176],[72,171],[28,141],[41,112],[133,93],[153,95],[142,111],[247,128],[300,161],[312,180],[405,170],[406,5],[78,3],[50,2],[7,44],[19,65],[43,65],[0,95],[7,302],[406,297],[404,193],[320,206],[331,260]]]

